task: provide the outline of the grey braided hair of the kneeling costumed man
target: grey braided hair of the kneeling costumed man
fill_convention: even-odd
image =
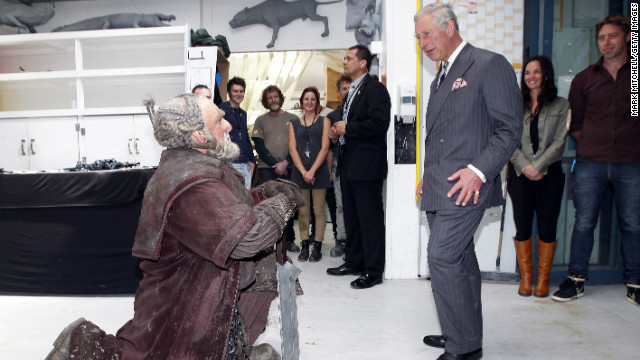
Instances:
[[[191,133],[204,128],[202,111],[194,94],[182,94],[172,97],[158,107],[148,110],[153,122],[153,135],[158,143],[169,149],[202,147],[191,140]],[[144,104],[153,108],[153,98],[145,99]]]

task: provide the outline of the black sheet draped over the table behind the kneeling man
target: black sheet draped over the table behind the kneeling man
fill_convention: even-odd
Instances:
[[[0,175],[0,292],[134,293],[152,169]]]

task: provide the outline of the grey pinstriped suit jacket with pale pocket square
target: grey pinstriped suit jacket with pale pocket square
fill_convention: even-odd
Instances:
[[[500,171],[520,143],[522,95],[511,64],[504,56],[467,44],[446,78],[431,95],[426,114],[425,160],[421,209],[462,209],[457,192],[447,192],[458,181],[447,181],[471,164],[487,181],[477,204],[486,209],[502,203]]]

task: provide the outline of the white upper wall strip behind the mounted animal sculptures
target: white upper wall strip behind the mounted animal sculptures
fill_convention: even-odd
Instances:
[[[210,35],[223,35],[227,38],[232,52],[271,51],[271,50],[320,50],[345,49],[356,40],[353,30],[345,30],[346,0],[340,3],[318,5],[317,13],[327,16],[329,35],[321,37],[324,24],[309,19],[293,20],[280,28],[275,46],[266,47],[271,41],[271,28],[261,25],[249,25],[232,29],[229,21],[245,7],[253,7],[264,0],[88,0],[58,1],[55,3],[55,15],[49,22],[37,26],[38,32],[52,29],[91,17],[114,13],[162,13],[175,15],[174,25],[189,24],[191,28],[205,28]],[[320,1],[322,2],[322,1]],[[22,30],[24,33],[24,30]],[[17,34],[18,29],[6,25],[0,26],[0,35]]]

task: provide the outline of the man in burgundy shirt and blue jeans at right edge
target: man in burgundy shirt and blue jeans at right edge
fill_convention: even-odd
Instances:
[[[584,295],[593,231],[602,197],[613,187],[624,258],[627,298],[640,305],[640,119],[631,116],[629,18],[606,17],[596,25],[600,60],[576,75],[569,91],[571,127],[578,143],[569,277],[552,299]]]

